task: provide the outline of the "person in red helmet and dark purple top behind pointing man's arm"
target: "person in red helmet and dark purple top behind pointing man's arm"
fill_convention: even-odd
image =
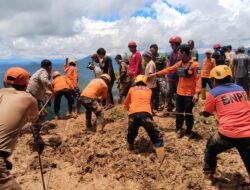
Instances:
[[[170,46],[172,48],[172,52],[170,54],[169,62],[167,67],[174,66],[180,59],[178,56],[178,49],[181,45],[181,38],[179,36],[174,36],[169,39]],[[178,76],[176,72],[170,73],[167,75],[167,111],[172,112],[174,109],[173,98],[176,94],[176,87],[178,82]]]

